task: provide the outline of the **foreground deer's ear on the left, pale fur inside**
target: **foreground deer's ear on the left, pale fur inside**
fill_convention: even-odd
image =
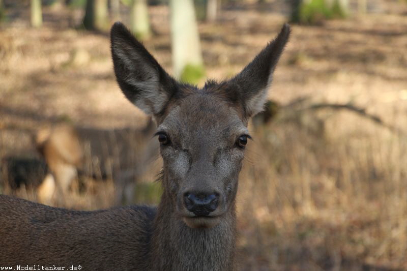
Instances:
[[[110,31],[114,73],[124,95],[147,114],[159,115],[177,83],[121,22]]]

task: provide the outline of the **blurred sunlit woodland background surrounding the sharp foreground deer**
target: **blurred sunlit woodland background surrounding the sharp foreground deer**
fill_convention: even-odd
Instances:
[[[112,70],[117,20],[198,85],[289,21],[240,175],[240,270],[407,270],[405,0],[0,0],[0,193],[157,203],[154,124]]]

